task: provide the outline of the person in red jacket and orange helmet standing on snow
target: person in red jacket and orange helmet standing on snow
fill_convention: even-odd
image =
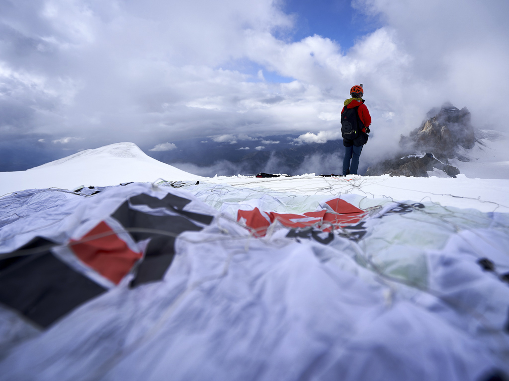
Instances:
[[[356,175],[359,168],[359,158],[362,147],[367,142],[370,131],[371,116],[364,105],[362,84],[350,89],[352,98],[345,101],[341,110],[341,135],[345,146],[343,160],[343,176]],[[350,164],[350,160],[352,163]]]

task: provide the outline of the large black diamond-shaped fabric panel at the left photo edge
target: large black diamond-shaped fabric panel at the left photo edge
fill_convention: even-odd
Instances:
[[[40,240],[44,242],[35,243],[47,245],[49,242]],[[34,247],[23,247],[26,248]],[[55,258],[49,249],[2,260],[0,267],[0,302],[41,327],[48,327],[80,304],[106,291]]]

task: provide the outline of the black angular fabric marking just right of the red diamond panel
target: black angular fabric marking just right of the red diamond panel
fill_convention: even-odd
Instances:
[[[126,229],[153,229],[154,232],[129,232],[135,241],[150,238],[145,250],[145,258],[139,264],[136,277],[131,282],[134,287],[139,284],[160,280],[175,256],[175,239],[185,231],[200,231],[202,227],[194,225],[182,216],[157,216],[133,210],[129,203],[124,202],[111,215]],[[171,235],[164,235],[157,231],[164,231]]]

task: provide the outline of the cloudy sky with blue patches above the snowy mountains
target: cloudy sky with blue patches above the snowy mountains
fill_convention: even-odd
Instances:
[[[363,155],[445,101],[503,130],[509,96],[485,89],[509,86],[506,14],[506,0],[0,0],[0,171],[125,141],[337,139],[359,83]]]

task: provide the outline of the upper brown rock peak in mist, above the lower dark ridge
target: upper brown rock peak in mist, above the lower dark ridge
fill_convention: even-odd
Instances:
[[[443,105],[435,116],[400,140],[404,151],[432,152],[442,161],[455,157],[459,146],[469,149],[474,143],[470,112],[466,107],[460,110],[450,104]]]

